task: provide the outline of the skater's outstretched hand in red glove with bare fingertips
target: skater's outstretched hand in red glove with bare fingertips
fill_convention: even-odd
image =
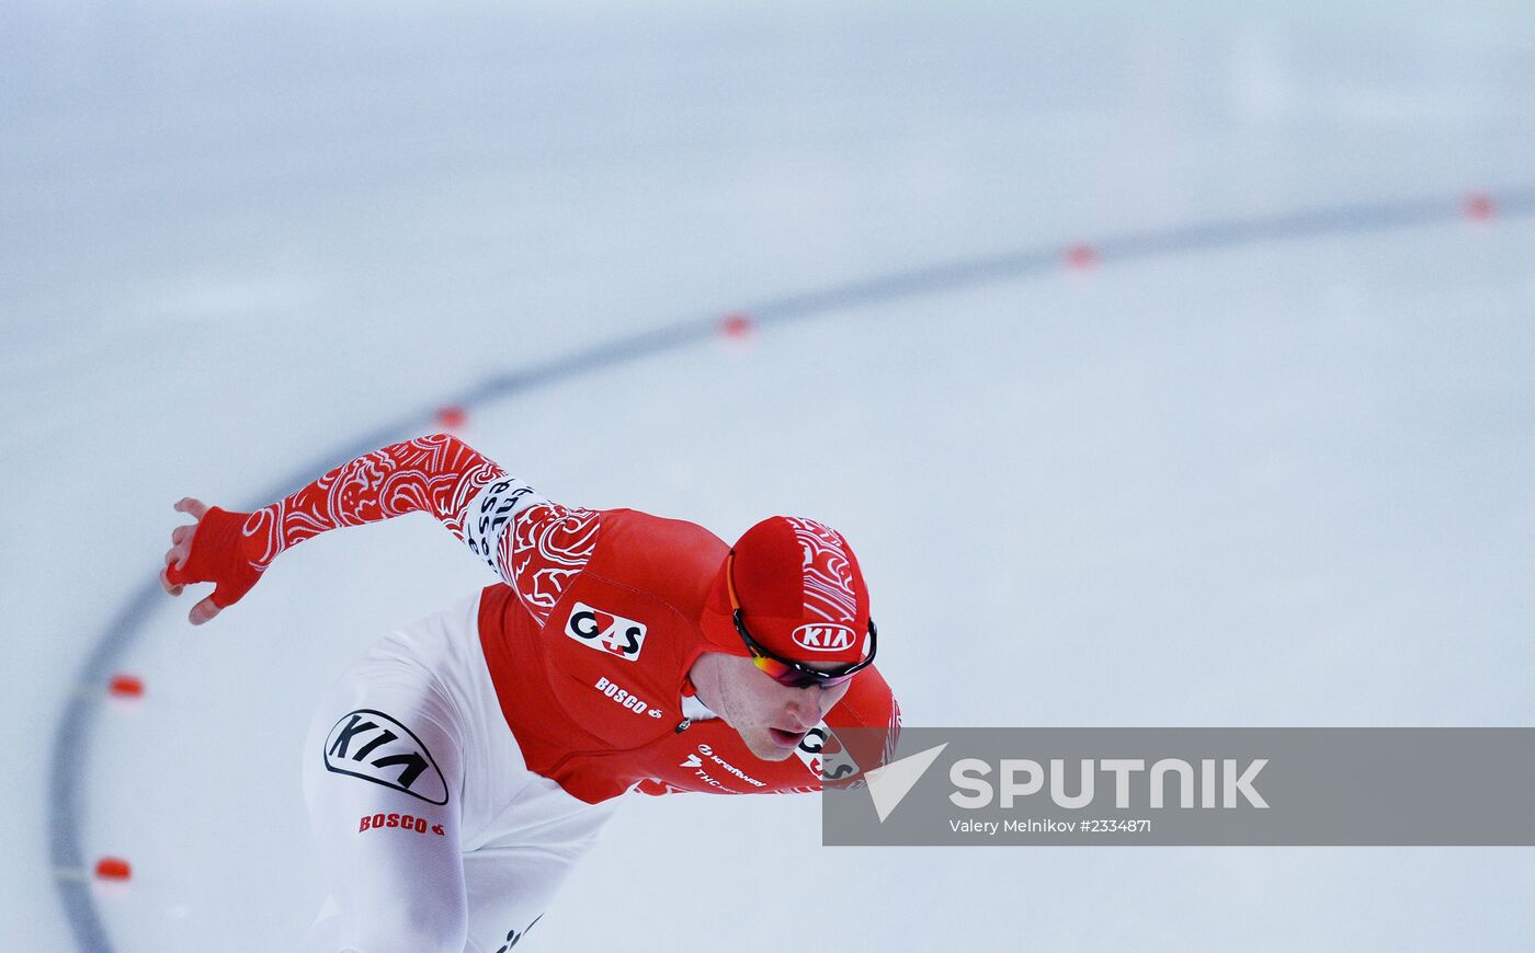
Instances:
[[[160,585],[170,595],[181,595],[187,583],[213,583],[207,595],[187,614],[187,620],[200,626],[218,615],[250,591],[261,579],[262,569],[253,565],[244,548],[241,528],[249,513],[230,513],[209,506],[203,500],[184,497],[175,503],[177,513],[186,513],[192,525],[170,531],[170,551],[166,566],[160,571]]]

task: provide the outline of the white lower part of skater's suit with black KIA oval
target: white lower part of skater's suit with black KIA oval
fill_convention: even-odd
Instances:
[[[302,953],[519,953],[617,800],[527,769],[479,595],[387,635],[315,714],[304,795],[325,902]]]

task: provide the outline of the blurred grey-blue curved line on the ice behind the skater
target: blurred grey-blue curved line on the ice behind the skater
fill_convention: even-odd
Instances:
[[[1490,207],[1495,209],[1495,216],[1518,218],[1535,215],[1535,189],[1494,193],[1489,198],[1492,200]],[[1463,204],[1451,200],[1343,206],[1274,218],[1208,223],[1160,232],[1122,235],[1076,247],[1090,249],[1091,255],[1088,261],[1093,264],[1113,264],[1119,261],[1150,259],[1162,255],[1225,250],[1269,241],[1363,235],[1391,229],[1448,224],[1461,218],[1478,216],[1478,210],[1486,212],[1487,209],[1489,206],[1484,201]],[[758,325],[771,325],[853,305],[953,292],[1007,279],[1051,275],[1068,264],[1068,247],[1041,247],[992,258],[913,269],[775,298],[758,302],[755,307],[748,307],[744,313]],[[444,399],[442,405],[473,407],[606,367],[639,361],[655,353],[706,341],[717,333],[718,327],[718,318],[709,316],[617,338],[537,367],[490,378],[464,393]],[[361,456],[384,444],[416,434],[422,427],[431,425],[433,416],[422,413],[362,434],[347,447],[332,450],[318,457],[316,463],[276,480],[272,490],[255,494],[244,503],[244,508],[266,505],[282,496],[289,486],[299,485],[313,477],[315,473],[327,470],[333,460]],[[144,631],[144,623],[150,614],[157,608],[164,608],[166,603],[160,602],[161,599],[160,583],[150,582],[104,626],[95,648],[81,668],[77,689],[69,697],[54,734],[54,747],[49,758],[49,856],[58,898],[64,905],[75,942],[86,953],[109,953],[114,947],[91,890],[91,875],[80,844],[80,769],[91,743],[91,729],[95,715],[101,709],[101,701],[106,695],[106,681],[115,669],[115,663]]]

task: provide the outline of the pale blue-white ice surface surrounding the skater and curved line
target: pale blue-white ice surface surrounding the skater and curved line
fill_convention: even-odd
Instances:
[[[48,746],[177,497],[255,503],[487,373],[783,293],[1535,184],[1517,3],[204,6],[0,9],[3,950],[72,948]],[[1110,262],[464,436],[577,503],[840,526],[910,724],[1529,724],[1532,262],[1532,219]],[[117,948],[289,948],[310,706],[487,582],[399,520],[204,629],[167,599],[86,757],[86,853],[137,872]],[[1527,849],[829,850],[814,798],[674,796],[517,948],[1523,950],[1532,882]]]

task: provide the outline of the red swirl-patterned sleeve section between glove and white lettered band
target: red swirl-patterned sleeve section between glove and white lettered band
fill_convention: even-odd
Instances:
[[[327,529],[430,513],[459,539],[464,516],[502,468],[457,437],[433,434],[391,444],[332,470],[246,519],[243,549],[266,569],[284,549]],[[530,488],[531,491],[531,488]]]

